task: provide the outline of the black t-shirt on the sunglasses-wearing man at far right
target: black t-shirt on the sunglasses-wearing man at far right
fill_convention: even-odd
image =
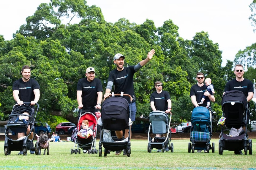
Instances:
[[[230,90],[239,90],[244,93],[245,97],[247,97],[248,92],[253,92],[253,84],[252,81],[248,79],[244,79],[241,82],[236,81],[236,79],[232,79],[226,83],[224,92]]]

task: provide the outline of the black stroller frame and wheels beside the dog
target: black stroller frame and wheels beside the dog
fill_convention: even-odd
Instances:
[[[27,155],[27,151],[28,150],[32,150],[34,149],[34,144],[33,144],[33,140],[35,137],[35,133],[33,133],[33,138],[32,140],[28,140],[29,135],[31,135],[32,132],[35,131],[35,127],[34,127],[34,122],[37,116],[37,111],[39,109],[39,104],[36,103],[35,105],[37,106],[36,111],[33,112],[32,108],[29,106],[30,102],[24,102],[24,105],[20,105],[18,107],[16,107],[18,104],[15,104],[12,107],[12,112],[11,114],[8,116],[8,123],[5,129],[5,140],[4,140],[4,155],[10,155],[12,150],[23,150],[23,155],[26,156]],[[13,116],[18,117],[19,115],[23,115],[22,113],[15,113],[12,114],[14,111],[27,111],[26,109],[23,109],[28,107],[31,109],[31,114],[29,115],[29,122],[27,124],[25,123],[12,123],[10,121],[12,121]],[[19,110],[20,109],[20,110]],[[18,129],[18,128],[22,128],[22,129],[26,129],[28,127],[28,125],[30,125],[30,132],[29,134],[27,134],[26,137],[22,138],[22,139],[17,139],[14,140],[9,136],[9,129]]]

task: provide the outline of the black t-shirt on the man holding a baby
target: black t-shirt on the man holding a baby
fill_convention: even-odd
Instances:
[[[196,101],[197,103],[199,103],[203,97],[203,93],[205,92],[205,90],[206,90],[205,84],[202,87],[199,87],[197,84],[195,84],[190,88],[189,96],[191,97],[192,95],[195,95]],[[207,106],[206,100],[203,102],[203,104],[200,104],[199,106],[206,107]]]

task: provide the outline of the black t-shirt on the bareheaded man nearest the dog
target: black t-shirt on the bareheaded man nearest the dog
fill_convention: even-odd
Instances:
[[[31,102],[35,99],[34,89],[40,89],[38,82],[32,78],[23,82],[22,78],[16,80],[12,85],[13,90],[19,90],[19,98],[23,102]]]

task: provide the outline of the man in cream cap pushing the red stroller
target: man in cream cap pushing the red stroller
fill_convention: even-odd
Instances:
[[[101,109],[102,101],[102,83],[98,78],[95,78],[95,70],[93,67],[88,67],[85,73],[86,77],[79,79],[77,83],[77,102],[78,109],[82,109],[82,114],[91,112],[95,114],[98,109]],[[79,110],[79,114],[81,111]]]

